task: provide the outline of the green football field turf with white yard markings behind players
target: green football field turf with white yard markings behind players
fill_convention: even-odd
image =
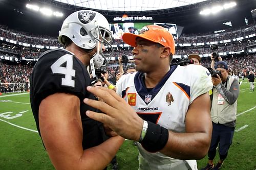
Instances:
[[[221,169],[256,169],[256,90],[240,86],[237,127],[227,159]],[[29,93],[0,95],[0,169],[54,169],[36,131]],[[119,169],[138,169],[138,151],[125,140],[117,153]],[[218,156],[216,158],[216,161]],[[198,160],[198,169],[207,156]],[[109,165],[108,169],[111,169]]]

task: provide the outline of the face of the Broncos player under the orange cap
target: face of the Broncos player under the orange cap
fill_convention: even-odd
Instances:
[[[156,68],[160,66],[162,48],[163,47],[157,46],[155,42],[140,37],[137,38],[136,46],[132,51],[135,69],[146,73],[156,70]]]

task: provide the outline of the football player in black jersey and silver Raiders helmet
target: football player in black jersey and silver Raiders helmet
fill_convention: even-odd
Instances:
[[[86,90],[91,83],[86,66],[95,75],[94,67],[106,61],[105,45],[112,48],[109,23],[98,12],[77,11],[63,21],[58,39],[65,50],[41,54],[31,75],[37,130],[56,169],[104,169],[123,138],[111,133],[104,141],[102,124],[85,114],[94,108],[82,100],[94,99]]]

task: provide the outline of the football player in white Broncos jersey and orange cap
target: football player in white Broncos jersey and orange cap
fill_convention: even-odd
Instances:
[[[138,141],[139,169],[197,169],[193,159],[207,154],[211,139],[210,73],[195,64],[170,67],[175,42],[160,26],[124,33],[123,41],[134,47],[137,72],[119,79],[119,95],[88,87],[105,103],[84,102],[106,114],[86,114]]]

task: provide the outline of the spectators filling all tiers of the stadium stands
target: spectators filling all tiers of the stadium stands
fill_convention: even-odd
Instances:
[[[0,25],[0,36],[8,39],[15,40],[17,42],[25,42],[33,45],[44,45],[44,46],[60,46],[57,38],[50,36],[33,35],[26,32],[19,32],[16,30],[9,29],[7,26]],[[180,46],[180,43],[201,43],[201,42],[212,42],[227,40],[239,37],[245,37],[246,35],[255,33],[256,25],[249,25],[246,28],[240,28],[236,30],[226,30],[225,32],[214,34],[214,33],[204,33],[204,34],[183,34],[179,39],[176,40],[177,50],[175,55],[189,55],[189,54],[211,54],[213,51],[209,47],[205,46]],[[246,45],[250,45],[253,42],[243,39],[237,41],[236,43],[229,42],[219,45],[218,53],[222,52],[236,52],[246,50]],[[124,44],[121,39],[114,40],[113,44],[117,46]],[[109,79],[112,82],[116,82],[116,75],[119,72],[118,57],[123,55],[132,56],[132,47],[116,47],[113,57],[115,60],[111,60],[110,66],[108,67]],[[17,57],[19,60],[21,58],[36,59],[38,56],[46,51],[47,48],[29,48],[23,46],[17,46],[16,48],[0,47],[0,55],[8,55],[10,57]],[[240,78],[245,78],[249,74],[249,71],[255,71],[255,55],[244,54],[244,55],[228,55],[222,56],[223,61],[229,63],[229,69],[231,75],[239,76]],[[184,58],[183,58],[184,59]],[[173,63],[178,63],[180,59],[174,59]],[[202,65],[205,67],[210,67],[210,57],[202,58]],[[6,64],[0,59],[0,83],[25,83],[29,80],[32,71],[31,66],[22,64]]]

